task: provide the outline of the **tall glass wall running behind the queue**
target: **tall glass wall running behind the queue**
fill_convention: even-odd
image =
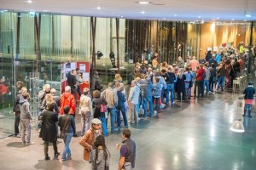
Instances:
[[[125,19],[119,19],[119,26],[116,23],[116,19],[96,18],[96,70],[105,84],[113,81],[118,70],[114,67],[118,62],[124,82],[129,83],[134,63],[147,63],[154,53],[169,64],[174,63],[177,56],[184,59],[188,55],[199,55],[200,37],[203,34],[201,24]],[[247,35],[244,39],[247,40]],[[18,90],[15,82],[21,81],[28,88],[32,96],[32,114],[35,116],[38,111],[38,91],[44,83],[49,83],[60,94],[61,63],[92,63],[92,43],[90,17],[0,13],[0,138],[14,133],[12,105]],[[115,63],[109,58],[111,52],[115,56]]]

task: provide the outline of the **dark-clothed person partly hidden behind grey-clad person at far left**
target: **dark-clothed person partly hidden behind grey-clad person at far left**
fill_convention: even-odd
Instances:
[[[14,102],[14,114],[15,114],[15,137],[20,138],[19,125],[20,125],[20,99],[23,99],[23,96],[26,95],[26,87],[20,89],[20,93],[17,94]]]

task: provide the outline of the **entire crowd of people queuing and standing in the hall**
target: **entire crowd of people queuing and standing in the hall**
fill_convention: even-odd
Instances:
[[[179,56],[177,62],[169,65],[160,62],[159,55],[155,54],[147,65],[136,63],[134,80],[127,93],[119,73],[115,74],[113,82],[108,83],[108,88],[103,89],[98,72],[94,72],[90,90],[79,88],[79,69],[73,70],[67,77],[68,86],[61,96],[56,96],[56,90],[45,84],[38,94],[38,132],[44,140],[45,160],[50,159],[49,143],[53,144],[55,156],[61,154],[56,144],[58,138],[62,138],[65,144],[62,160],[71,159],[70,143],[72,137],[79,135],[75,121],[75,116],[79,114],[79,144],[84,147],[84,160],[91,163],[92,169],[109,167],[110,153],[104,139],[109,133],[108,124],[110,133],[122,132],[124,139],[123,145],[116,145],[120,150],[119,169],[135,167],[136,144],[130,139],[129,124],[139,122],[142,116],[154,117],[176,102],[186,102],[192,97],[203,98],[216,90],[224,91],[224,88],[232,86],[236,77],[245,74],[248,57],[247,51],[244,54],[212,54],[209,51],[199,60],[189,56],[184,61]],[[15,136],[21,137],[22,144],[34,144],[31,140],[29,94],[26,87],[20,87],[17,92],[14,103]]]

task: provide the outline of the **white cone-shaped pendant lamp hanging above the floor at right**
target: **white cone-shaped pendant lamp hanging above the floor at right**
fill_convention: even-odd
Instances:
[[[243,103],[243,97],[239,97],[237,100],[237,120],[232,124],[232,126],[230,127],[230,131],[236,132],[236,133],[244,133],[244,127],[243,124],[241,122],[241,108],[242,107],[242,103]]]

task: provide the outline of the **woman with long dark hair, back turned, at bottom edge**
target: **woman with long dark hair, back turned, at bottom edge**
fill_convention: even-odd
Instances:
[[[109,170],[110,153],[102,135],[96,137],[93,149],[90,151],[89,162],[92,170]]]

